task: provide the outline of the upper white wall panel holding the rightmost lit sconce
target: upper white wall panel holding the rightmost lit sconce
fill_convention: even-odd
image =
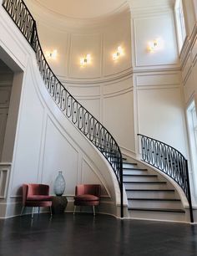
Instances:
[[[148,44],[156,38],[161,38],[162,45],[151,53]],[[154,13],[151,16],[134,18],[134,47],[136,67],[157,65],[158,69],[164,65],[177,64],[173,13]]]

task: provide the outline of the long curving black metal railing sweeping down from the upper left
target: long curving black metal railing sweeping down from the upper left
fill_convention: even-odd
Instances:
[[[49,67],[41,48],[36,21],[23,0],[3,0],[3,8],[7,11],[13,22],[18,26],[23,36],[33,48],[38,63],[38,69],[46,85],[48,93],[52,96],[58,108],[73,122],[79,131],[97,147],[109,161],[119,182],[121,217],[124,217],[123,207],[123,166],[122,154],[114,137],[92,114],[75,100],[59,81]]]

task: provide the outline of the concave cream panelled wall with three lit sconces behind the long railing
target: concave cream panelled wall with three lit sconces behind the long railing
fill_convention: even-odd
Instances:
[[[122,151],[134,154],[129,7],[125,5],[120,13],[98,23],[82,21],[78,27],[74,23],[70,26],[67,19],[33,3],[28,6],[38,23],[43,51],[58,51],[57,59],[48,59],[54,73],[113,134]],[[124,55],[114,61],[113,54],[119,45],[124,49]],[[92,61],[81,67],[80,57],[85,54],[91,54]]]

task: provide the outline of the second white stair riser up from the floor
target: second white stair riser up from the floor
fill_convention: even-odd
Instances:
[[[161,201],[135,201],[129,200],[129,207],[140,208],[170,208],[170,209],[182,209],[181,202],[161,202]]]

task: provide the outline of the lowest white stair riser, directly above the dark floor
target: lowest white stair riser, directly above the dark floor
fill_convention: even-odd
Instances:
[[[177,212],[142,212],[129,211],[129,218],[169,220],[177,222],[185,222],[185,214]]]

